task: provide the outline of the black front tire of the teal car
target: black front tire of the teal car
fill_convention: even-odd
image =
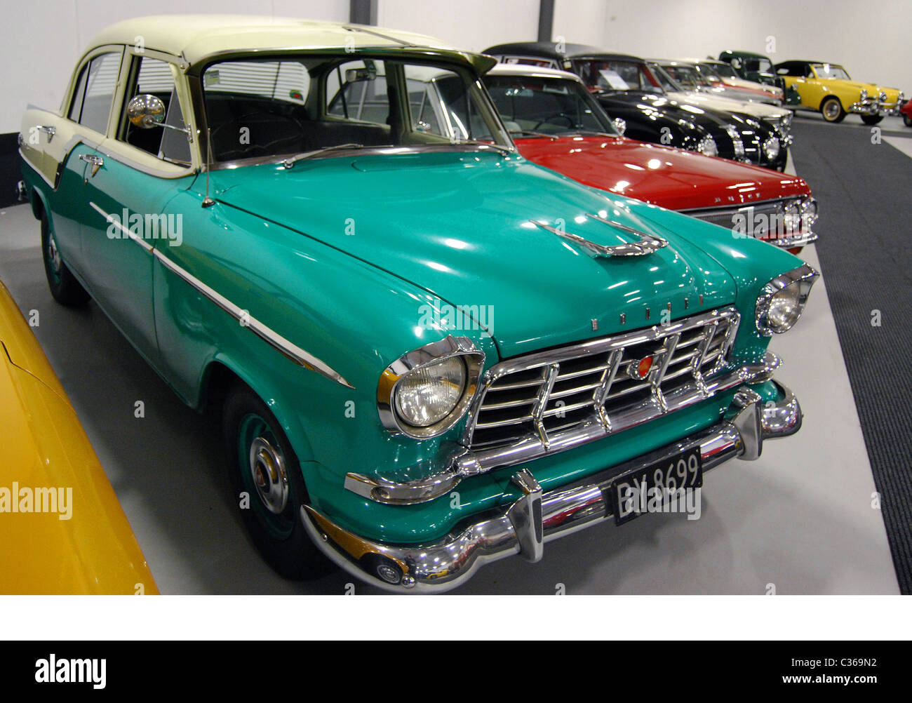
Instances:
[[[277,574],[295,581],[306,581],[332,572],[335,566],[310,541],[301,523],[301,506],[309,499],[295,450],[263,400],[243,383],[237,383],[225,399],[222,431],[234,504],[238,506],[244,526],[264,561]],[[251,434],[256,436],[248,440]],[[262,455],[265,461],[251,460],[255,453],[251,447],[256,439],[265,442],[265,445],[259,445],[261,449],[265,448]],[[245,455],[243,464],[242,454]],[[275,458],[281,461],[276,462]],[[284,472],[276,470],[282,466]],[[261,497],[254,483],[257,470],[263,480],[261,485],[268,481],[265,492],[274,485],[285,486],[285,491],[278,489],[285,495],[284,507],[279,512],[274,512],[274,509],[279,509],[280,505],[274,502],[273,508],[270,508],[267,500]],[[282,481],[283,473],[285,481]],[[243,492],[247,493],[246,507],[242,507]]]

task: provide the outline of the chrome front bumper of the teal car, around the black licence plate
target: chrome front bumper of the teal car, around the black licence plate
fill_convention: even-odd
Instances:
[[[751,388],[741,388],[718,424],[588,477],[584,483],[545,493],[530,470],[517,470],[512,481],[522,493],[520,498],[501,512],[461,525],[437,543],[372,542],[347,532],[309,505],[301,509],[301,520],[331,561],[370,584],[390,591],[447,591],[483,564],[512,554],[537,562],[544,543],[612,517],[606,490],[615,477],[628,470],[697,447],[704,471],[735,458],[757,459],[764,439],[786,437],[801,428],[797,398],[788,388],[773,383],[779,389],[779,401],[764,403]]]

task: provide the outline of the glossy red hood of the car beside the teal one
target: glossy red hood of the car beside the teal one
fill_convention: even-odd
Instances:
[[[526,159],[575,181],[669,210],[811,192],[797,176],[621,137],[540,137],[516,146]]]

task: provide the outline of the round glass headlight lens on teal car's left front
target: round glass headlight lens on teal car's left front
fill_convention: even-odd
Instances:
[[[465,364],[460,357],[417,368],[399,379],[396,413],[412,427],[435,425],[456,408],[465,380]]]

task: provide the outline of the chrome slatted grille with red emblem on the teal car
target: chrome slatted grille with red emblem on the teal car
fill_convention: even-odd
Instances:
[[[666,326],[510,359],[492,367],[472,406],[473,450],[533,438],[544,447],[594,422],[616,432],[712,394],[738,331],[734,307]],[[633,371],[651,359],[645,377]]]

